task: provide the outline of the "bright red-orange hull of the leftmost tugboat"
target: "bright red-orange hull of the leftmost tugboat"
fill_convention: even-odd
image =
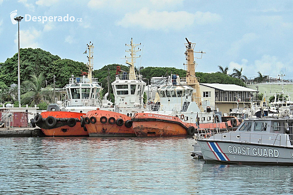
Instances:
[[[45,136],[67,137],[67,136],[88,136],[88,132],[81,127],[80,117],[85,117],[84,113],[76,112],[42,112],[42,121],[37,123]],[[54,117],[57,122],[54,126],[48,126],[45,122],[47,117]],[[73,127],[68,126],[68,119],[75,118],[76,124]]]

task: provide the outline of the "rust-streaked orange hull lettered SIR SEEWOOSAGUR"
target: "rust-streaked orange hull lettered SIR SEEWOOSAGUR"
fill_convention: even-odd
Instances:
[[[133,130],[137,137],[174,137],[174,136],[191,136],[188,135],[188,127],[197,127],[194,123],[186,123],[178,117],[137,113],[133,122]],[[201,123],[199,128],[202,129],[227,129],[231,128],[231,122],[221,123]]]

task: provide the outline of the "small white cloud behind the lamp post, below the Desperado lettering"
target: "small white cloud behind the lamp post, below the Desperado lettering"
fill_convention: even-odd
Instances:
[[[39,48],[38,39],[41,37],[41,31],[36,29],[20,30],[20,47],[21,48]],[[18,44],[18,32],[16,33],[15,44]]]

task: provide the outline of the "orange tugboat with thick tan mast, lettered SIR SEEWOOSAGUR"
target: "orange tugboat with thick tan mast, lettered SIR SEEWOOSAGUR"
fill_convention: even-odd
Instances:
[[[157,107],[137,113],[131,119],[136,136],[193,136],[201,130],[224,131],[239,125],[236,118],[221,117],[215,109],[202,106],[195,77],[194,46],[195,43],[186,43],[186,78],[171,75],[164,79],[164,84],[157,89],[160,97]]]

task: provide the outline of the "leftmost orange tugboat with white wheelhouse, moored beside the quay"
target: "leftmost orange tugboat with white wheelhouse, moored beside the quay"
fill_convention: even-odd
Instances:
[[[50,104],[47,112],[42,112],[33,119],[33,123],[41,128],[45,136],[88,136],[85,127],[81,125],[81,117],[90,110],[100,106],[101,85],[97,78],[92,78],[93,44],[88,48],[88,76],[70,78],[63,88],[66,91],[61,105]],[[33,125],[34,125],[33,124]]]

